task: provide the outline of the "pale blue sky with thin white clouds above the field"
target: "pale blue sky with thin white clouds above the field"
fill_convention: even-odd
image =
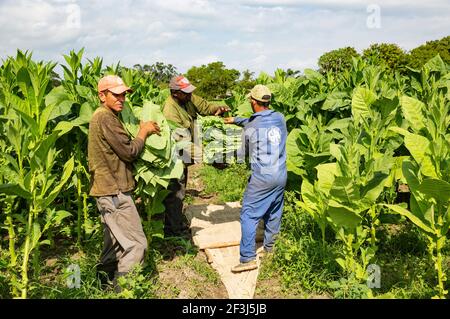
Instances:
[[[273,72],[317,67],[325,52],[373,43],[410,50],[450,35],[450,1],[0,0],[0,58],[17,48],[62,62],[85,47],[106,64],[222,61]]]

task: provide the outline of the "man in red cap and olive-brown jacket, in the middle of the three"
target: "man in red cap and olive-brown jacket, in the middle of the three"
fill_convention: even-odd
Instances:
[[[194,121],[197,115],[221,115],[230,109],[210,103],[192,92],[196,89],[187,78],[182,75],[174,76],[169,83],[170,96],[163,106],[166,119],[178,125],[173,132],[175,139],[192,141],[194,136]],[[194,141],[195,142],[195,141]],[[172,179],[168,189],[169,195],[164,200],[165,220],[164,233],[166,236],[178,236],[187,230],[186,220],[183,216],[183,199],[186,193],[187,165],[201,161],[201,148],[192,144],[183,150],[185,163],[181,179]],[[186,165],[187,164],[187,165]]]

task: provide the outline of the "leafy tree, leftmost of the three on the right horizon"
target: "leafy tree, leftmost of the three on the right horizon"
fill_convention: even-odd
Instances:
[[[322,73],[340,73],[352,65],[352,57],[359,56],[352,47],[340,48],[323,54],[319,58],[319,67]]]

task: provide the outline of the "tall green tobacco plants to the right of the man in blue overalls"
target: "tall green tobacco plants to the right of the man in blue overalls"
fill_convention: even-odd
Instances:
[[[299,78],[260,76],[275,93],[290,134],[288,170],[299,213],[341,243],[336,262],[365,282],[378,250],[377,228],[388,214],[404,216],[428,238],[445,297],[442,249],[450,227],[450,73],[439,56],[409,75],[353,60],[342,75],[305,71]],[[243,109],[241,107],[241,109]],[[297,177],[295,177],[297,176]],[[409,203],[395,204],[400,184]]]

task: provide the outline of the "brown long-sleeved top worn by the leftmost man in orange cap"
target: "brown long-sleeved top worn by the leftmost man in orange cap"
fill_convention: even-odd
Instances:
[[[117,115],[107,107],[100,106],[89,123],[90,195],[117,195],[133,190],[132,162],[143,148],[142,139],[130,140]]]

